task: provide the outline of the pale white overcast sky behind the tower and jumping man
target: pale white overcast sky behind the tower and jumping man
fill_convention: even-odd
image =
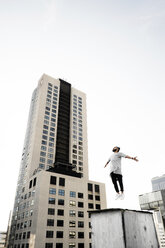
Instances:
[[[140,209],[165,174],[165,1],[0,1],[0,230],[13,208],[31,95],[46,73],[87,95],[89,178],[108,208]],[[125,199],[104,169],[113,146]]]

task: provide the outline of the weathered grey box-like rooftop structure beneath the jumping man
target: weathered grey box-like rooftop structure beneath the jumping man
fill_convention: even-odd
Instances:
[[[149,212],[107,209],[91,213],[92,248],[158,248]]]

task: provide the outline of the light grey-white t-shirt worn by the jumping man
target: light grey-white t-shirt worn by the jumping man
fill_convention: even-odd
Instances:
[[[122,174],[121,173],[121,158],[125,158],[127,155],[122,153],[122,152],[118,152],[118,153],[113,153],[110,158],[109,158],[109,162],[110,162],[110,173],[114,172],[115,174]]]

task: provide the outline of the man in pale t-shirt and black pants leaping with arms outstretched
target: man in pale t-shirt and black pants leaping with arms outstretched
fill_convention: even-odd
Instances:
[[[138,162],[139,160],[137,159],[137,157],[130,157],[124,153],[119,152],[120,147],[115,146],[112,151],[114,153],[110,156],[110,158],[108,159],[108,162],[106,163],[104,168],[108,165],[109,162],[111,162],[110,176],[112,178],[112,182],[113,182],[114,188],[115,188],[116,193],[117,193],[115,199],[116,200],[118,198],[124,199],[123,176],[121,173],[121,158],[133,159],[136,162]],[[119,182],[121,194],[119,193],[117,181]]]

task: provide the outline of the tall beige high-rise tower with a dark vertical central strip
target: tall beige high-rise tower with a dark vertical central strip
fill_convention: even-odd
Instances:
[[[106,208],[88,179],[86,95],[43,75],[31,100],[8,248],[89,248],[88,210]]]

